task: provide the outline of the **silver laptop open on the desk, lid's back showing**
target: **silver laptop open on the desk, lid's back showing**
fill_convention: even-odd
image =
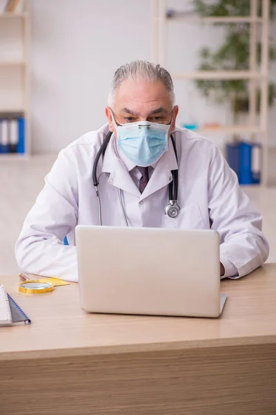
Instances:
[[[76,238],[83,310],[220,315],[217,232],[80,225]]]

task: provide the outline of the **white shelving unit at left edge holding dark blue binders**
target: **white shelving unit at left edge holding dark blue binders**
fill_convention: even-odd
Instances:
[[[9,38],[10,27],[17,28],[17,39]],[[7,29],[7,30],[6,30]],[[6,80],[14,84],[12,85],[12,99],[5,103],[3,98],[0,102],[0,113],[22,113],[25,119],[25,154],[0,154],[1,160],[24,160],[30,156],[31,138],[30,138],[30,0],[23,1],[22,12],[4,12],[0,13],[0,30],[6,30],[5,36],[0,38],[0,47],[5,48],[5,40],[15,42],[17,50],[15,55],[18,57],[3,58],[0,55],[0,80]],[[14,35],[14,33],[12,33]],[[6,46],[9,48],[9,46]],[[8,54],[9,55],[9,54]],[[7,71],[9,71],[7,75]],[[3,82],[0,82],[0,95],[7,96],[8,89],[3,91]],[[19,104],[20,103],[20,104]]]

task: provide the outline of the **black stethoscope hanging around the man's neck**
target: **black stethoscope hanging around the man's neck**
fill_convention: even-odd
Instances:
[[[110,138],[112,136],[112,132],[108,131],[106,134],[106,137],[103,140],[103,144],[101,145],[99,151],[97,152],[97,156],[95,157],[93,169],[92,169],[92,179],[93,179],[93,185],[95,186],[97,201],[98,201],[98,208],[99,208],[99,224],[102,225],[101,220],[101,199],[99,196],[99,181],[97,178],[97,167],[99,164],[99,159],[104,157],[104,154],[106,153],[106,147],[108,147],[108,143],[110,142]],[[172,137],[172,134],[170,134],[170,139],[172,140],[172,147],[175,151],[175,158],[177,159],[177,149],[175,147],[175,140]],[[178,161],[178,160],[177,160]],[[172,181],[170,181],[168,185],[168,205],[165,206],[164,213],[167,214],[170,218],[176,218],[179,214],[180,208],[177,204],[177,195],[178,195],[178,170],[171,170],[172,172]],[[121,199],[121,189],[118,188],[118,195],[119,195],[119,201],[121,205],[121,212],[124,216],[124,221],[126,223],[126,226],[128,226],[128,219],[126,217],[126,212],[124,210],[124,204]]]

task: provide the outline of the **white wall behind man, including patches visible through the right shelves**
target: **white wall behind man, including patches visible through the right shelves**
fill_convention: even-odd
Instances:
[[[189,8],[189,0],[170,0]],[[276,24],[273,25],[276,38]],[[201,46],[217,47],[223,29],[170,24],[170,71],[198,64]],[[106,120],[104,108],[115,69],[132,59],[150,59],[150,0],[32,0],[32,151],[50,153]],[[276,80],[274,65],[274,78]],[[179,125],[230,123],[227,103],[206,102],[192,83],[175,82]],[[270,110],[270,144],[276,145],[275,108]],[[218,145],[223,137],[213,136]]]

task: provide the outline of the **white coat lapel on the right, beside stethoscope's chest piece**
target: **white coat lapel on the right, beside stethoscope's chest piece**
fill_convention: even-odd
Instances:
[[[141,194],[141,200],[146,199],[150,194],[157,192],[161,187],[168,186],[172,181],[171,170],[177,170],[177,159],[175,158],[175,151],[172,147],[172,142],[168,142],[168,151],[160,158],[155,167],[155,171],[152,173],[150,181],[146,186],[146,189]]]

